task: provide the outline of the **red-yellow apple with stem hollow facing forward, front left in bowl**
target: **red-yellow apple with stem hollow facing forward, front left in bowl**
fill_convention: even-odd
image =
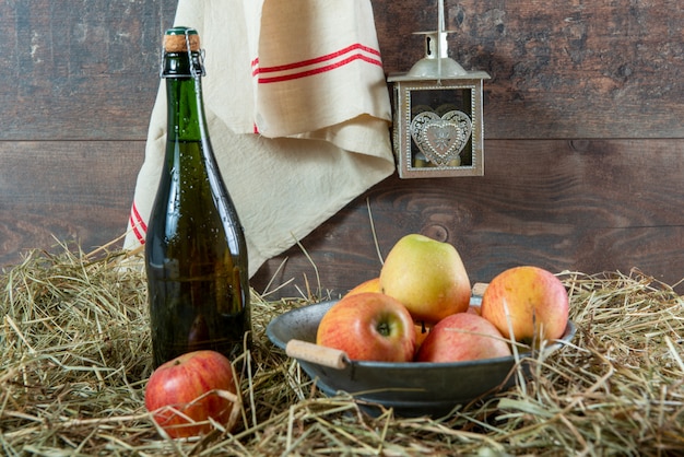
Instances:
[[[316,343],[352,360],[409,362],[415,330],[409,310],[391,296],[363,292],[343,297],[321,318]]]

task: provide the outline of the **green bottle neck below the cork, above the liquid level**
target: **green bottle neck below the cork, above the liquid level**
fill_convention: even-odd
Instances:
[[[202,74],[199,52],[164,56],[162,78],[166,79],[168,140],[199,141],[205,137]]]

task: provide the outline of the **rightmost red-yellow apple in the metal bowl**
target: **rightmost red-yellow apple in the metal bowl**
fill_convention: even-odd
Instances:
[[[552,272],[532,266],[515,267],[492,280],[482,295],[480,312],[506,338],[538,345],[563,337],[568,294]]]

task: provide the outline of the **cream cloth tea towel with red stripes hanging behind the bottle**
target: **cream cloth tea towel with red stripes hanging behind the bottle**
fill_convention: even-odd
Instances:
[[[205,50],[214,153],[245,228],[250,277],[391,175],[390,103],[369,0],[180,0]],[[125,248],[144,243],[166,141],[152,110]]]

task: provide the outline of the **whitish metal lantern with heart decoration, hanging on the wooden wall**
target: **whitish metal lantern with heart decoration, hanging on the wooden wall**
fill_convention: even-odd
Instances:
[[[401,178],[484,175],[482,81],[448,57],[444,1],[438,27],[425,35],[425,57],[394,86],[393,148]]]

